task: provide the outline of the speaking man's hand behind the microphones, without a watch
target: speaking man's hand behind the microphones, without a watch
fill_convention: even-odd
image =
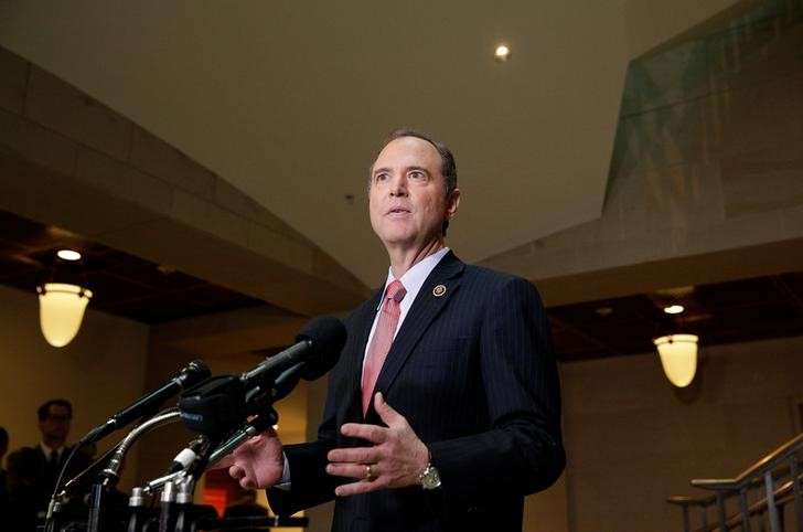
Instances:
[[[272,429],[254,436],[231,455],[226,455],[212,469],[228,467],[228,475],[245,489],[276,486],[285,470],[281,440]]]

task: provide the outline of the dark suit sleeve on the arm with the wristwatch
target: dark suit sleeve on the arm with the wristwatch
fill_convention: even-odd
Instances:
[[[527,280],[510,278],[486,301],[480,370],[490,429],[429,444],[448,507],[546,489],[566,462],[557,368],[540,298]]]

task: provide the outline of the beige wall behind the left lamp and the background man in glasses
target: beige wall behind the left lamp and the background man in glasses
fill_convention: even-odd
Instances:
[[[89,308],[68,345],[49,345],[39,329],[35,294],[0,287],[0,425],[9,449],[35,445],[36,408],[64,397],[73,403],[71,443],[143,392],[148,327]],[[115,441],[109,436],[99,450]],[[130,487],[132,455],[121,481]]]

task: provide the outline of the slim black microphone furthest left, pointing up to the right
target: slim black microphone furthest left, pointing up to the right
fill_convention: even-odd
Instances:
[[[109,417],[106,423],[89,430],[82,441],[97,441],[107,436],[109,433],[125,427],[135,419],[154,414],[159,409],[159,406],[161,406],[168,397],[175,395],[182,389],[192,386],[193,384],[207,379],[210,375],[210,369],[203,360],[193,360],[186,366],[182,368],[179,374],[171,379],[162,387],[141,396],[130,406],[122,408],[120,412]]]

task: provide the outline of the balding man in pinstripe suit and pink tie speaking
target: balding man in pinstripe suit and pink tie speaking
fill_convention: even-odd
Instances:
[[[387,283],[345,320],[317,441],[272,434],[225,464],[289,514],[336,497],[334,531],[514,531],[565,455],[546,315],[528,281],[445,246],[460,204],[451,152],[395,132],[372,166]]]

